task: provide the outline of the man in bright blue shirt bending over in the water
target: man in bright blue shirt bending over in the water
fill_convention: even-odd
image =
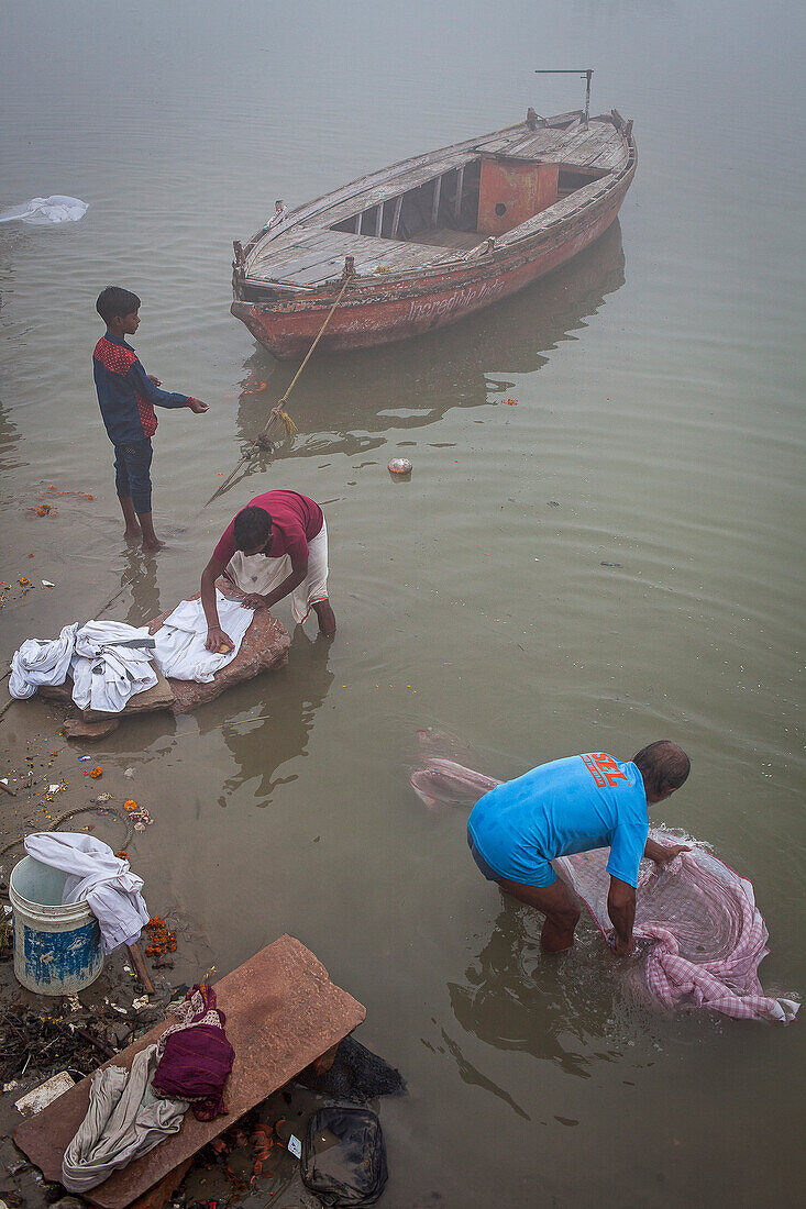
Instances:
[[[610,848],[608,913],[614,949],[634,947],[635,885],[643,856],[666,864],[685,844],[647,839],[647,806],[664,802],[689,776],[690,760],[668,739],[644,747],[629,763],[606,752],[552,760],[490,789],[467,820],[467,843],[489,881],[543,912],[540,937],[547,953],[574,943],[580,908],[552,861],[571,852]]]

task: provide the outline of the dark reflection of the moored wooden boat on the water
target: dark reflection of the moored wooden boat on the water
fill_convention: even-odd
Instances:
[[[562,341],[577,339],[623,283],[616,221],[557,272],[453,328],[347,359],[315,353],[288,403],[299,432],[274,456],[355,456],[381,446],[392,429],[399,434],[437,423],[451,407],[487,405],[491,395],[511,389],[509,375],[540,370]],[[295,371],[263,348],[247,359],[243,382],[267,386],[240,399],[237,426],[244,442],[260,432]],[[255,458],[248,474],[259,475],[267,463],[267,456]],[[240,494],[246,499],[258,490],[258,484],[253,491],[242,482]]]

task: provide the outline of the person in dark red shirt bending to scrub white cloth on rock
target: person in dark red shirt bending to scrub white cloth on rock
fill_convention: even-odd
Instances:
[[[215,604],[215,580],[221,574],[246,592],[244,608],[271,608],[290,595],[298,625],[313,609],[319,634],[335,632],[328,600],[328,531],[322,509],[307,496],[266,491],[225,528],[201,580],[208,650],[232,646]]]

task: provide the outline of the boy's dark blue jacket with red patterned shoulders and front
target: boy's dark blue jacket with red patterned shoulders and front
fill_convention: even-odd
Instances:
[[[154,407],[186,407],[186,394],[161,391],[148,376],[137,353],[109,331],[92,354],[92,372],[100,415],[113,445],[131,445],[152,436],[157,418]]]

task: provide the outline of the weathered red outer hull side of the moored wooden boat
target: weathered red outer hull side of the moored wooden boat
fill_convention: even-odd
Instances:
[[[443,273],[409,276],[385,282],[382,276],[358,278],[350,285],[322,336],[318,348],[350,352],[409,340],[457,320],[507,297],[565,264],[589,247],[615,221],[633,178],[628,172],[616,189],[581,214],[557,224],[547,237],[524,241],[499,256],[480,256]],[[340,283],[305,296],[276,301],[236,300],[232,314],[281,360],[304,355],[333,306]]]

